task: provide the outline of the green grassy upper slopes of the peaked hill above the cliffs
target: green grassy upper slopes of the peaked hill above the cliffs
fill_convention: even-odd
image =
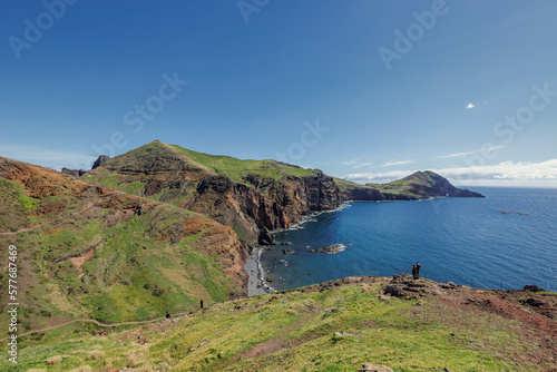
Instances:
[[[321,170],[317,169],[304,169],[275,160],[241,160],[153,141],[116,156],[105,167],[86,173],[82,179],[180,207],[190,206],[196,202],[196,211],[214,216],[222,212],[214,209],[215,205],[211,204],[214,200],[196,200],[199,183],[212,176],[225,176],[231,184],[241,183],[265,189],[263,193],[273,195],[277,182],[284,180],[285,177],[320,174]],[[218,179],[214,183],[227,187],[227,182]],[[242,238],[245,237],[245,226],[233,227]]]

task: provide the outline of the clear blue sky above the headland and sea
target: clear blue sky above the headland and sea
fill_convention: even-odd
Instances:
[[[7,1],[0,156],[154,139],[359,183],[557,187],[555,1]]]

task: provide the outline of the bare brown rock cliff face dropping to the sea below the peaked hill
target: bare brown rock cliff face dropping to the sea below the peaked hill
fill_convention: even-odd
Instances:
[[[248,175],[245,179],[255,187],[226,176],[208,176],[197,185],[190,202],[183,206],[207,213],[232,226],[248,244],[264,244],[261,231],[290,227],[306,214],[336,208],[342,203],[339,187],[322,173],[287,176],[281,180],[257,175]]]

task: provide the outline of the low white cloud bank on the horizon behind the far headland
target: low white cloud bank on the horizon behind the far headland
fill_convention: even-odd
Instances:
[[[448,178],[455,185],[467,186],[536,186],[557,188],[557,159],[540,163],[504,161],[477,167],[452,167],[430,169]],[[388,183],[412,174],[416,170],[385,173],[354,173],[344,179],[355,183]]]

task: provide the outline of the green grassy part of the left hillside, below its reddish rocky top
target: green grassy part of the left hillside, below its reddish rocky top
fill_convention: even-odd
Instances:
[[[160,238],[166,227],[194,214],[169,205],[108,227],[101,222],[109,209],[89,208],[87,198],[68,194],[38,200],[27,197],[21,185],[0,178],[0,245],[18,246],[19,298],[22,331],[40,329],[68,319],[105,322],[149,319],[227,298],[228,278],[212,257],[195,248],[199,235],[178,244]],[[63,211],[30,216],[37,206],[68,200]],[[6,218],[4,218],[6,217]],[[37,226],[18,234],[6,234]],[[67,260],[98,244],[96,254],[78,271]],[[0,257],[7,262],[8,249]],[[8,293],[7,273],[0,272],[0,291]],[[0,321],[7,324],[2,305]],[[3,335],[7,329],[1,331]]]

